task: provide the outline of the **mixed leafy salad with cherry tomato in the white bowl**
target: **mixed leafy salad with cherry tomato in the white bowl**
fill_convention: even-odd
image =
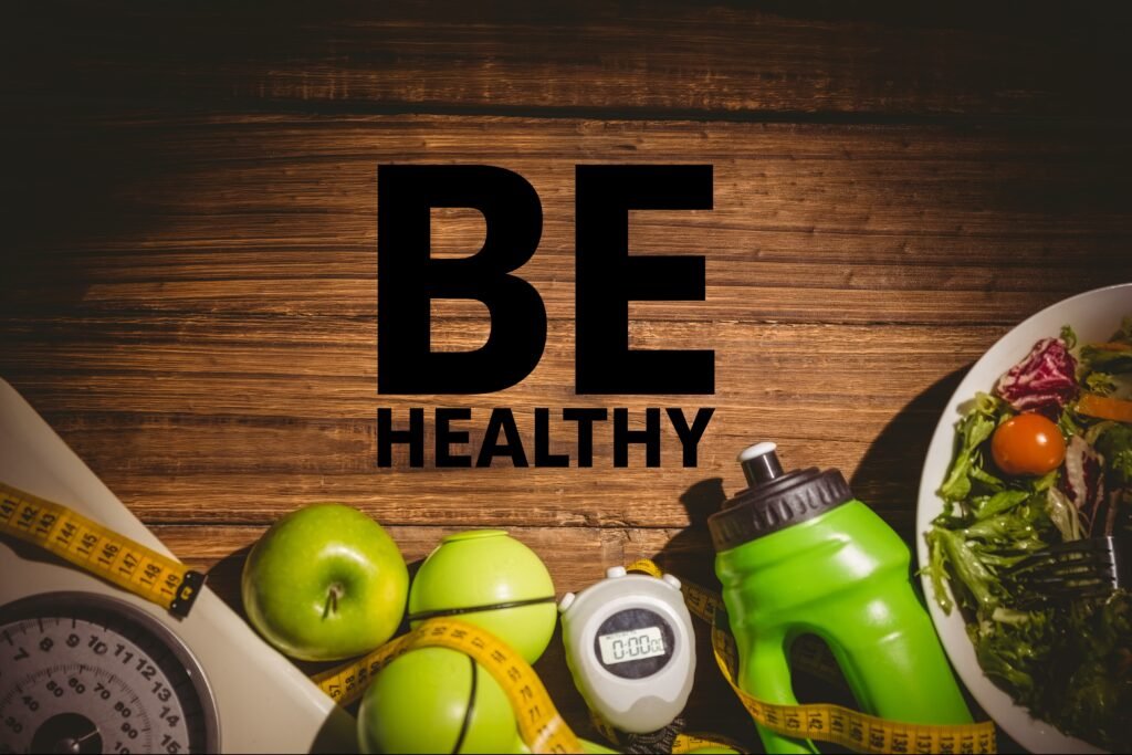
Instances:
[[[1130,752],[1132,595],[1052,603],[1009,569],[1056,543],[1132,537],[1132,317],[1103,343],[1069,326],[1039,341],[966,409],[926,535],[935,598],[950,612],[950,583],[984,672],[1035,718]]]

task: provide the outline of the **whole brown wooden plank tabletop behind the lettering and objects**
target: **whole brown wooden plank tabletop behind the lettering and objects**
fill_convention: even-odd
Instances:
[[[559,593],[657,556],[706,580],[704,518],[761,439],[837,466],[909,539],[963,370],[1013,324],[1132,280],[1127,19],[985,3],[86,3],[6,9],[0,375],[239,606],[247,548],[309,501],[410,560],[506,527]],[[376,168],[517,171],[546,353],[486,395],[377,394]],[[637,348],[715,351],[713,396],[575,395],[574,168],[710,163],[714,208],[635,212],[638,254],[703,255],[706,299],[631,307]],[[483,224],[438,212],[437,254]],[[483,309],[436,304],[438,348]],[[696,469],[376,465],[376,410],[717,407]],[[573,436],[556,431],[560,451]],[[557,643],[554,645],[558,647]],[[695,728],[753,741],[707,657]],[[539,670],[571,723],[552,650]]]

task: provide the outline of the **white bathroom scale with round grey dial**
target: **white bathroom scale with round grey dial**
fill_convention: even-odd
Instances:
[[[2,379],[0,481],[173,555]],[[354,719],[207,586],[181,619],[0,538],[0,753],[357,748]]]

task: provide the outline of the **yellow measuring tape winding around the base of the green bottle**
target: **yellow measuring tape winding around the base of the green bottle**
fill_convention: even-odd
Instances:
[[[659,577],[661,570],[648,559],[634,561],[628,572]],[[688,610],[711,626],[711,644],[723,678],[756,723],[777,733],[798,739],[829,741],[857,753],[995,753],[994,724],[932,726],[899,723],[840,705],[778,705],[752,697],[735,681],[738,653],[735,638],[720,628],[717,616],[726,614],[718,594],[687,581],[683,582]],[[804,655],[805,658],[805,655]],[[808,654],[808,662],[821,672],[826,661],[820,653]]]

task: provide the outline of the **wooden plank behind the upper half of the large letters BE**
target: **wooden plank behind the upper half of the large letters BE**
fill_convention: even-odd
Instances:
[[[3,311],[371,319],[383,162],[523,174],[546,222],[521,272],[556,319],[573,316],[578,162],[714,166],[713,211],[633,214],[641,252],[707,258],[706,301],[634,307],[650,319],[1012,323],[1132,268],[1127,129],[972,138],[957,128],[259,115],[76,128],[86,127],[54,157],[55,136],[19,135],[26,153],[9,185],[19,285]],[[78,183],[60,187],[55,170]],[[62,226],[50,217],[58,191]],[[456,239],[482,234],[454,226]]]

